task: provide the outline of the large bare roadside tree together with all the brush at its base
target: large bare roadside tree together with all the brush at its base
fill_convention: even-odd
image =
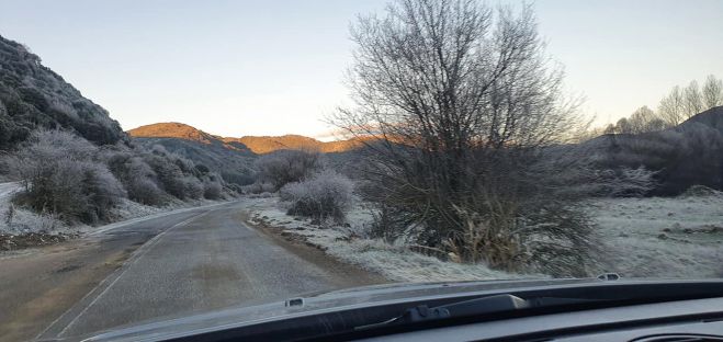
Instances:
[[[577,203],[630,182],[558,148],[585,125],[531,8],[396,1],[360,19],[352,38],[355,106],[334,121],[385,137],[365,144],[361,173],[384,215],[375,230],[463,262],[585,274],[595,242]]]

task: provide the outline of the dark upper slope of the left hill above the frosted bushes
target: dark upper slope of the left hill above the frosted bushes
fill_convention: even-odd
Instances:
[[[126,138],[103,107],[25,46],[0,36],[0,149],[12,149],[37,128],[64,128],[97,145]]]

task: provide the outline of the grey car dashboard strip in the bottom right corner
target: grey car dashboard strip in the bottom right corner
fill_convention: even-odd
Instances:
[[[417,330],[362,341],[723,341],[723,298],[612,307]]]

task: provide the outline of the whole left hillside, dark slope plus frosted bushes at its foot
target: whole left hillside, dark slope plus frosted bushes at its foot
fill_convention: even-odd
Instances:
[[[133,142],[27,47],[1,37],[0,178],[18,184],[0,198],[0,230],[10,232],[46,230],[19,219],[22,210],[63,226],[100,225],[129,207],[236,194],[210,167]]]

